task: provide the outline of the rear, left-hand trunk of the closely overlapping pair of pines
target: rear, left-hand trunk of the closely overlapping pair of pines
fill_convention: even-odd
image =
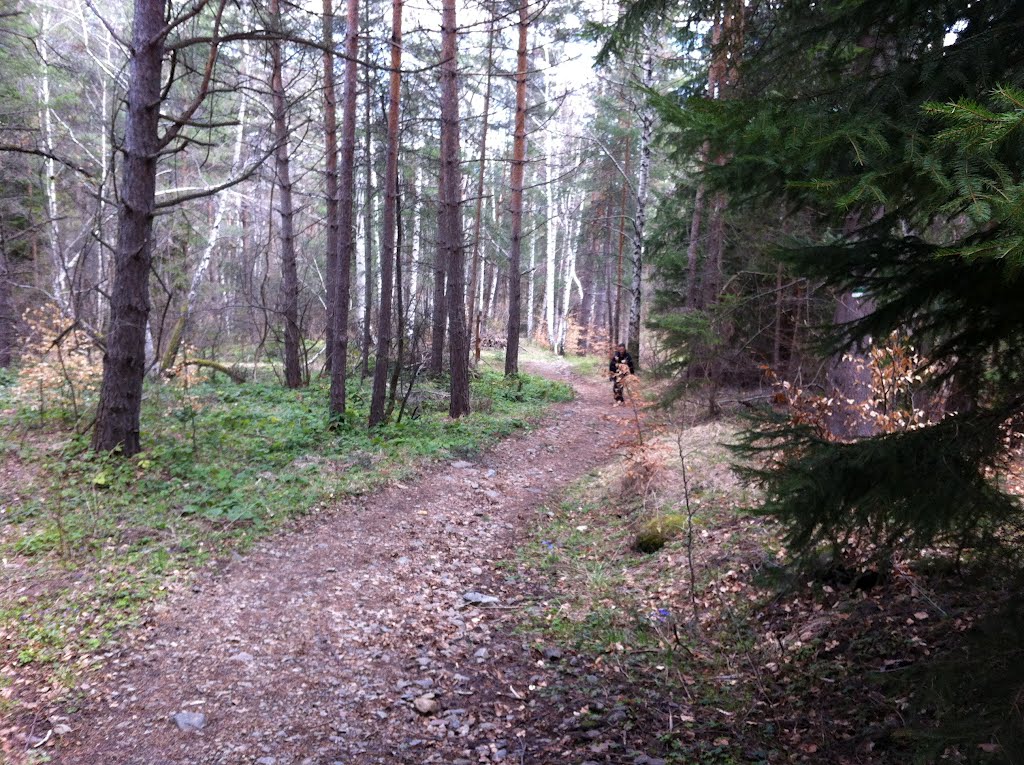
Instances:
[[[334,82],[334,8],[324,0],[324,137],[327,142],[327,349],[326,367],[331,372],[334,358],[334,326],[331,317],[338,302],[338,98]]]

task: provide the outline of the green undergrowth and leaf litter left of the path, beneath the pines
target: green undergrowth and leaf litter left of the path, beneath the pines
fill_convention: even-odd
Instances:
[[[451,420],[443,384],[422,384],[400,423],[370,431],[368,380],[350,383],[347,424],[331,431],[326,385],[148,386],[144,451],[130,459],[91,452],[87,434],[59,427],[59,413],[40,420],[0,387],[11,415],[0,469],[17,490],[0,498],[0,557],[11,575],[0,591],[0,667],[49,668],[47,684],[59,686],[197,566],[431,461],[472,458],[572,395],[561,383],[483,369],[471,416]]]

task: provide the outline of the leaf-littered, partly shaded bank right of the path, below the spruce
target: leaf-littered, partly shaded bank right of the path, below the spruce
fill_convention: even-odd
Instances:
[[[516,565],[543,583],[528,638],[574,653],[592,678],[563,675],[560,692],[577,708],[628,708],[616,756],[1024,762],[1019,581],[954,573],[938,552],[877,581],[798,567],[742,510],[752,498],[721,447],[734,431],[677,430],[567,491]],[[651,529],[658,544],[638,545]]]

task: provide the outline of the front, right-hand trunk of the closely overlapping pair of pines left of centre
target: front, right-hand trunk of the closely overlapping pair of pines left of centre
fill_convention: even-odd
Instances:
[[[331,368],[331,417],[345,416],[345,367],[348,364],[348,301],[351,285],[354,237],[352,231],[355,192],[355,61],[359,54],[359,0],[345,5],[345,90],[341,129],[341,177],[338,199],[338,299],[334,314],[334,355]]]

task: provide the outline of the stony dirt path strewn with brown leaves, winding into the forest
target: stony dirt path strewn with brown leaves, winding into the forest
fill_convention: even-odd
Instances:
[[[53,761],[550,762],[522,703],[538,655],[511,634],[529,594],[502,569],[545,502],[610,459],[630,420],[607,384],[560,360],[530,371],[570,381],[575,399],[472,463],[346,501],[158,606],[86,689]],[[202,729],[180,730],[182,712]]]

